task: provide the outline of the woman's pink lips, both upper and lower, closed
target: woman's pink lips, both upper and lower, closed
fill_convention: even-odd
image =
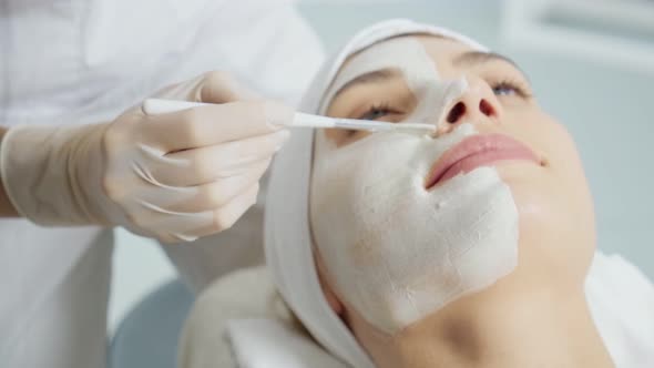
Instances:
[[[539,157],[523,143],[503,134],[473,135],[448,150],[438,160],[427,176],[427,190],[460,174],[480,166],[508,160],[532,161],[541,164]]]

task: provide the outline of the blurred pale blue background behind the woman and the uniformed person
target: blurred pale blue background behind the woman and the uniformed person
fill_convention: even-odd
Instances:
[[[510,55],[574,136],[595,198],[599,246],[654,279],[654,1],[299,1],[328,51],[378,20],[449,27]],[[590,3],[591,6],[589,7]],[[110,327],[174,277],[149,241],[117,232]]]

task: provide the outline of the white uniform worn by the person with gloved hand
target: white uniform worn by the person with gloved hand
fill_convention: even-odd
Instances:
[[[0,55],[4,126],[110,121],[210,70],[295,103],[323,58],[284,0],[0,0]],[[200,242],[166,247],[195,287],[257,257],[260,207]],[[0,221],[0,367],[105,365],[112,249],[96,227]]]

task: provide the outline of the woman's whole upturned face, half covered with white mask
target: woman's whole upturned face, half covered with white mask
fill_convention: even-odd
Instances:
[[[513,62],[396,38],[350,58],[326,96],[329,116],[437,125],[317,132],[311,229],[347,308],[392,334],[503,277],[583,283],[594,218],[581,162]]]

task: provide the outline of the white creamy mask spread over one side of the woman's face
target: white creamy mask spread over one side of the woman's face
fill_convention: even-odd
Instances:
[[[325,95],[357,75],[398,69],[418,105],[407,121],[438,122],[464,79],[443,81],[412,38],[384,41],[339,72]],[[323,106],[320,113],[325,113]],[[310,191],[315,245],[336,293],[380,330],[395,334],[515,268],[518,211],[493,167],[479,167],[427,191],[433,163],[472,124],[433,139],[376,133],[337,147],[316,134]]]

